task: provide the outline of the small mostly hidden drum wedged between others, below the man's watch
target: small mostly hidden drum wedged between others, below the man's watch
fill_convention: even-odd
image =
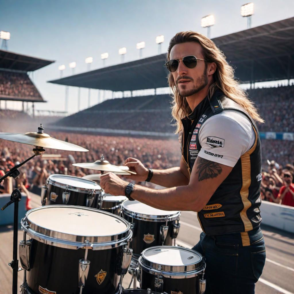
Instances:
[[[126,196],[113,196],[102,192],[101,197],[98,198],[97,208],[119,216],[121,214],[121,205],[126,200],[128,200]]]

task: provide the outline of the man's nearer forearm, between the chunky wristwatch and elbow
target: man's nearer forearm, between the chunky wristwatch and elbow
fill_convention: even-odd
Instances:
[[[199,196],[189,186],[161,190],[135,185],[131,197],[154,208],[167,211],[196,211]]]

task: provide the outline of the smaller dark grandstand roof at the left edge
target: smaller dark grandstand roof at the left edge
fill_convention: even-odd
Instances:
[[[2,69],[35,71],[53,62],[55,61],[0,50],[0,68]]]

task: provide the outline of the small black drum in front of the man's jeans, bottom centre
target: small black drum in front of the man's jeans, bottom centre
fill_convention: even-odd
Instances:
[[[194,250],[155,246],[139,257],[141,288],[164,293],[203,294],[205,262]]]

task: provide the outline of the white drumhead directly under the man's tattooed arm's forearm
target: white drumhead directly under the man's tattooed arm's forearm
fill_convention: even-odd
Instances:
[[[152,216],[168,216],[168,215],[177,214],[179,212],[179,211],[166,211],[166,210],[157,209],[149,205],[146,205],[144,203],[141,203],[137,200],[125,201],[123,203],[123,208],[126,208],[126,210],[132,211],[134,213],[140,213],[140,214],[152,215]]]

